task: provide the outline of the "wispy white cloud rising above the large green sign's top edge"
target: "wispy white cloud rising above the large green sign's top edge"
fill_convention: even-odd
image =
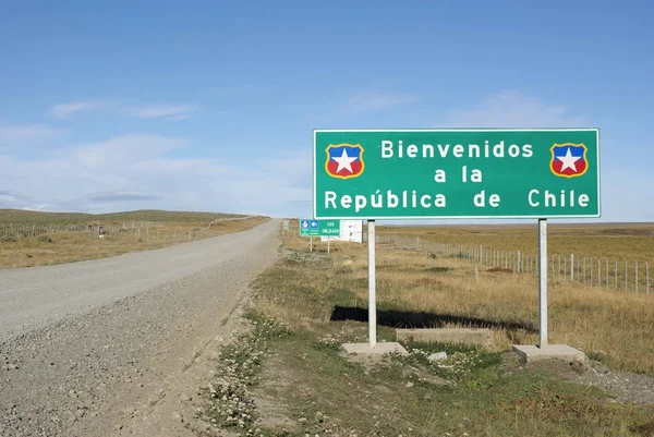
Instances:
[[[565,106],[548,105],[516,90],[502,90],[467,109],[447,111],[438,128],[583,128]]]

